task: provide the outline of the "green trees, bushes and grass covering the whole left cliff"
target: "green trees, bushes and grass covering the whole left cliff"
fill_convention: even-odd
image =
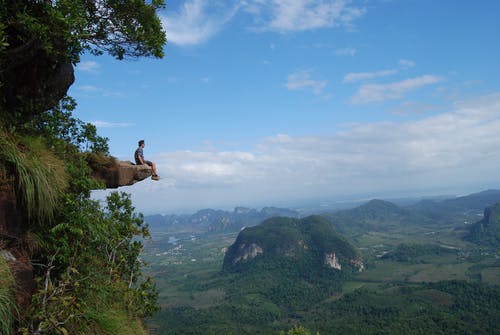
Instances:
[[[143,217],[127,194],[104,205],[90,199],[103,187],[91,168],[113,159],[96,127],[72,116],[66,93],[84,52],[162,57],[163,7],[0,0],[0,187],[23,224],[21,236],[2,235],[0,244],[31,257],[36,282],[17,318],[18,288],[0,258],[2,334],[144,334],[141,320],[157,310],[155,285],[141,272]]]

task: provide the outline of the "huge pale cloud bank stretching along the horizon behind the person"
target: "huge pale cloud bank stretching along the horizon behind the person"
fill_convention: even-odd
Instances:
[[[153,159],[163,179],[133,188],[134,203],[148,209],[479,191],[474,187],[499,186],[500,93],[412,122],[358,124],[331,136],[280,134],[253,153],[183,151]]]

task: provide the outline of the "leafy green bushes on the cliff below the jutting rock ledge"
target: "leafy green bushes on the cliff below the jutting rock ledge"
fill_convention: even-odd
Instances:
[[[73,334],[94,322],[102,308],[132,319],[154,313],[156,287],[143,278],[139,261],[141,239],[149,232],[130,196],[113,192],[104,208],[68,197],[60,214],[57,224],[39,231],[45,266],[39,268],[31,329]]]

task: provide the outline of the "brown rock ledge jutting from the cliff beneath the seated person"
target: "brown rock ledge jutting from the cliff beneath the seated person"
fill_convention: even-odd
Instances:
[[[92,177],[104,182],[106,188],[133,185],[151,176],[151,167],[135,165],[130,161],[112,161],[111,164],[96,166],[90,164]]]

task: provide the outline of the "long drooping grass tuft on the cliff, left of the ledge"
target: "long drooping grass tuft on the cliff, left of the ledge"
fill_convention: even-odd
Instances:
[[[0,168],[11,177],[16,196],[30,219],[51,219],[67,186],[64,163],[47,149],[43,139],[16,139],[0,133]]]

